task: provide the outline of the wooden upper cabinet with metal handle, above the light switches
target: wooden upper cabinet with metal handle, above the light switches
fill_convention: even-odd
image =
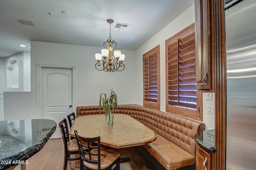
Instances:
[[[210,1],[195,0],[196,89],[211,90]]]

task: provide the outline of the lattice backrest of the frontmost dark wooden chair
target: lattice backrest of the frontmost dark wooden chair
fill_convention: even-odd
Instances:
[[[100,136],[86,138],[80,136],[76,130],[74,130],[74,132],[76,135],[80,158],[91,164],[98,164],[98,169],[100,170]]]

